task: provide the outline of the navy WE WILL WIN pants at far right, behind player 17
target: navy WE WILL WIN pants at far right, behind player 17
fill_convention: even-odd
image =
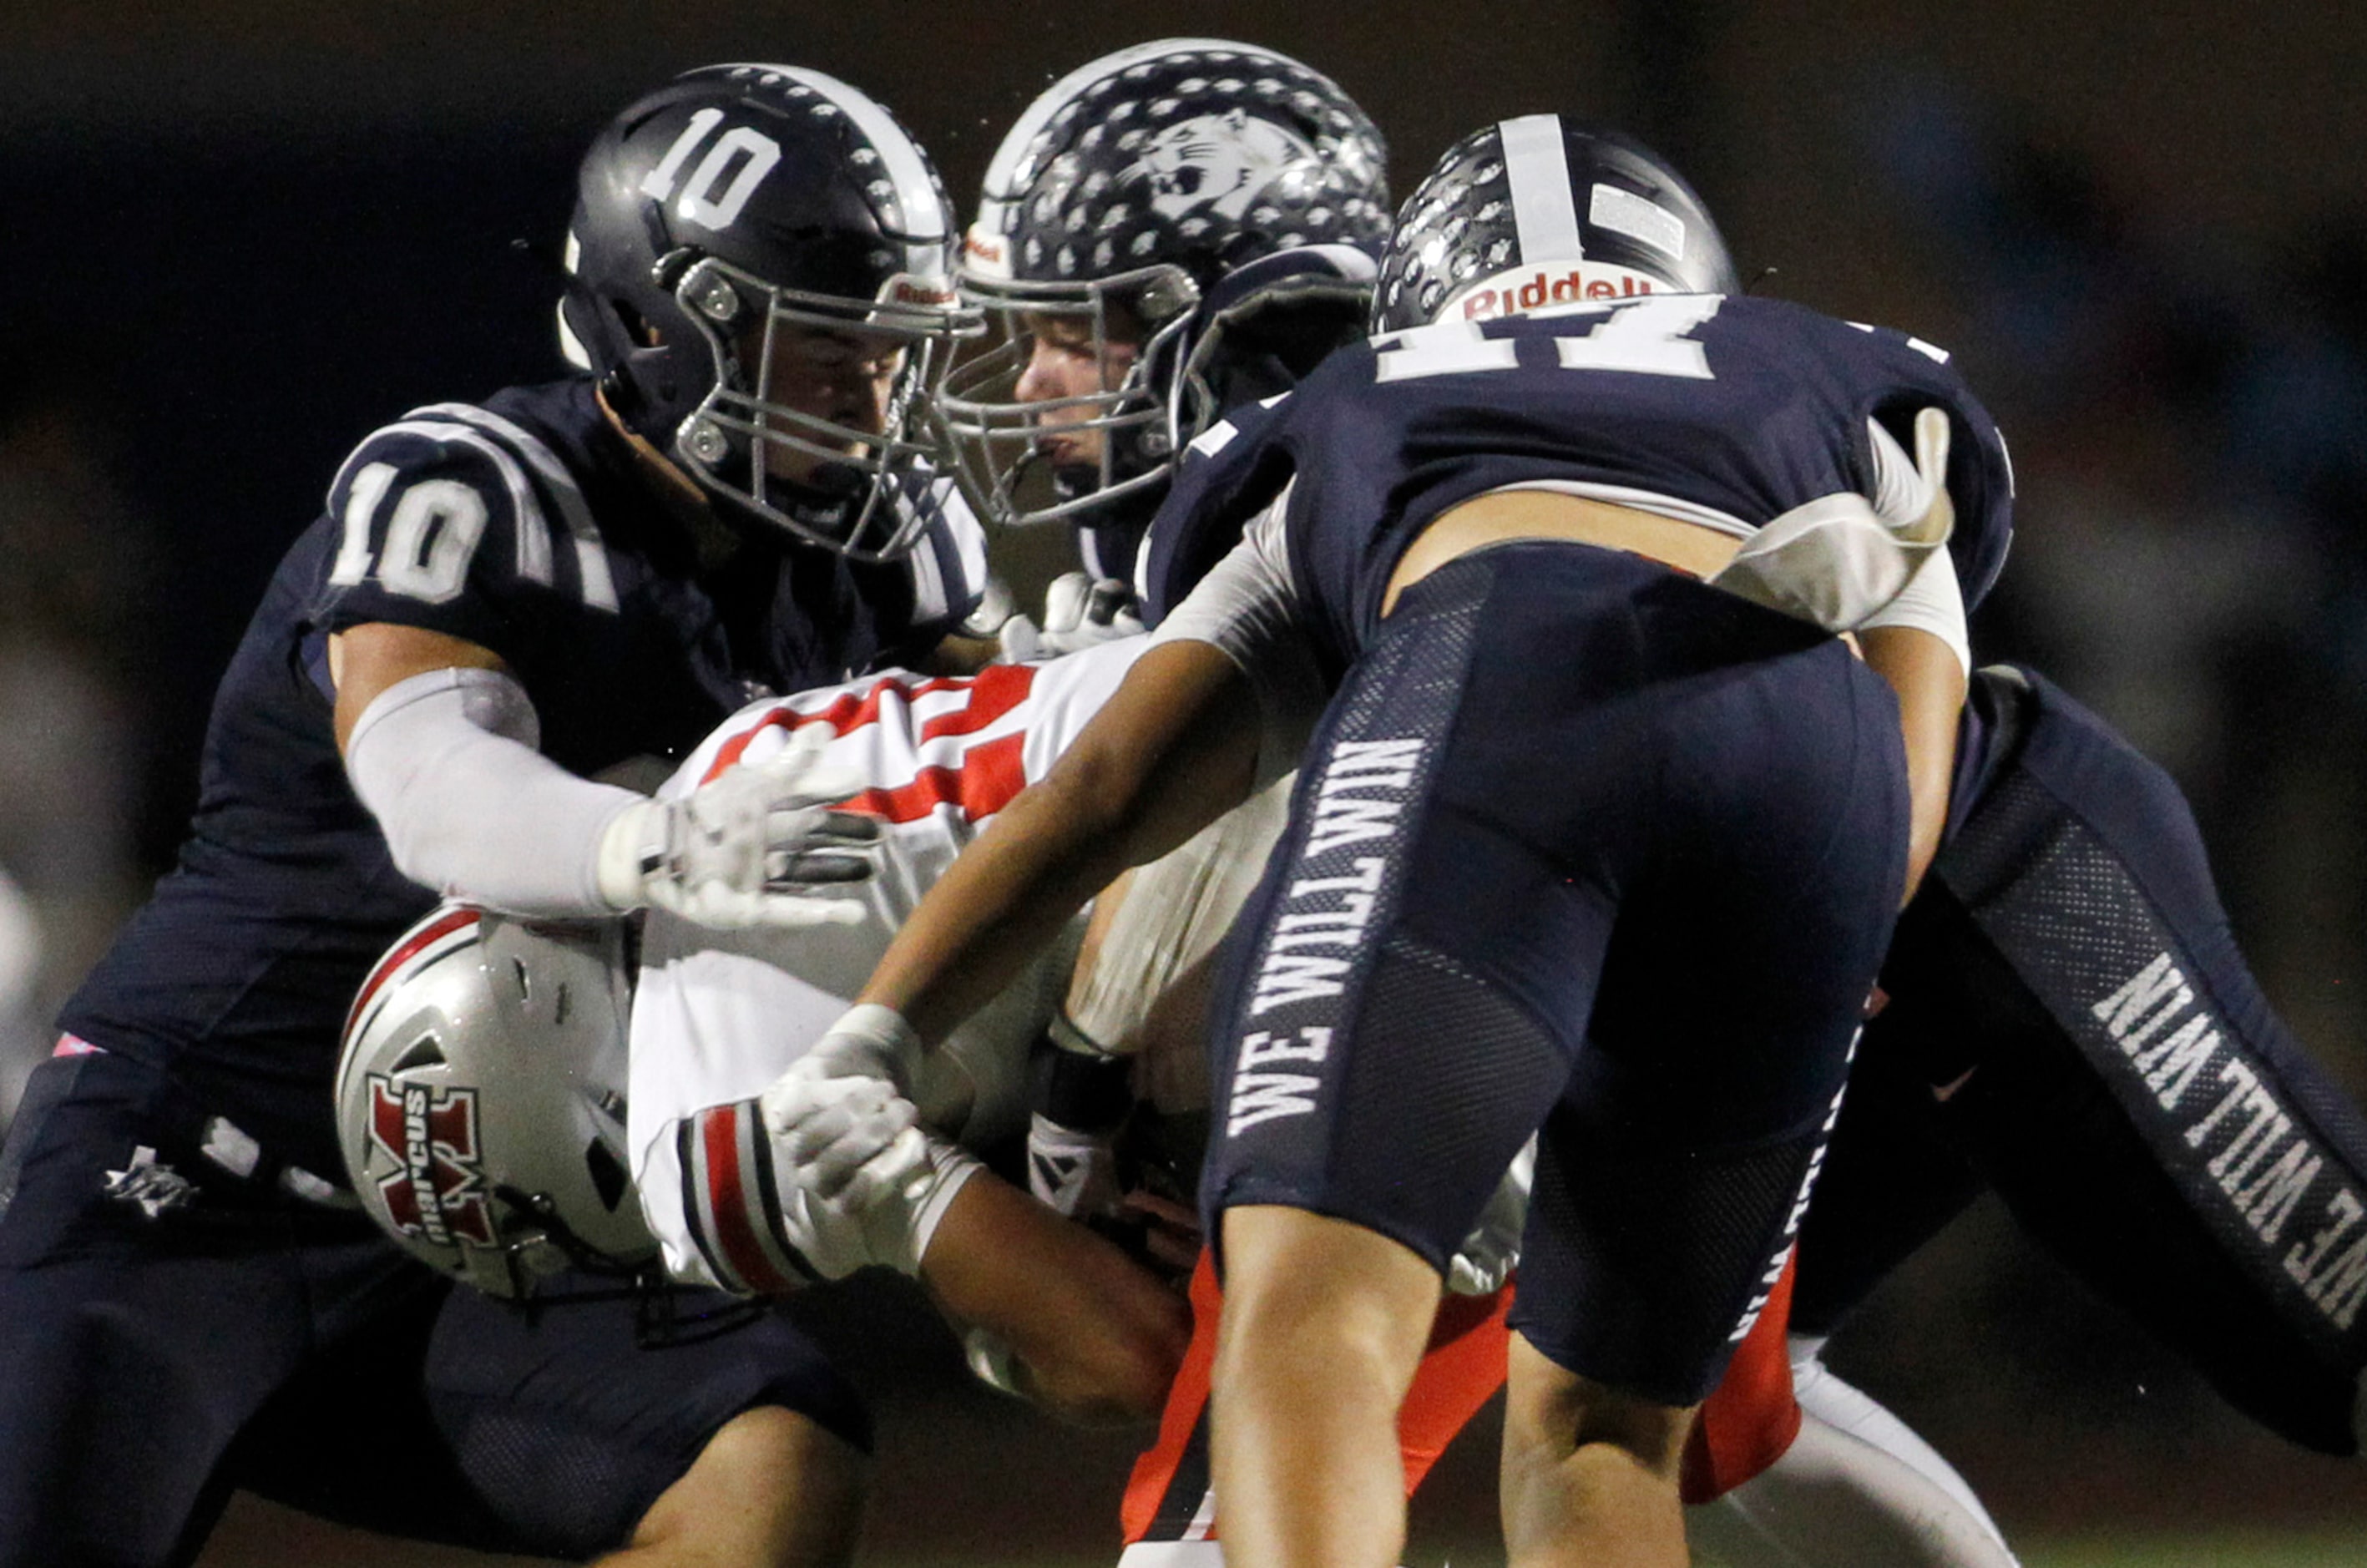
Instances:
[[[1988,1187],[2232,1405],[2358,1452],[2367,1125],[2244,966],[2168,775],[2026,670],[1981,670],[1969,706],[1792,1322],[1830,1331]]]

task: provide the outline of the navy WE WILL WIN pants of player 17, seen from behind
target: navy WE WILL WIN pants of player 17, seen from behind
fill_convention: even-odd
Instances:
[[[1444,1267],[1543,1127],[1515,1326],[1702,1397],[1787,1244],[1889,938],[1889,687],[1633,554],[1413,585],[1333,699],[1236,928],[1202,1203]]]

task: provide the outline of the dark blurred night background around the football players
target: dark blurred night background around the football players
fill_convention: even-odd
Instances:
[[[817,66],[888,102],[966,201],[1053,76],[1169,33],[1335,76],[1389,135],[1399,194],[1489,118],[1626,126],[1692,175],[1747,277],[1773,268],[1763,291],[1953,348],[2021,488],[1976,651],[2040,663],[2178,775],[2263,983],[2367,1092],[2367,14],[2135,9],[12,7],[0,869],[43,962],[0,1113],[170,862],[213,680],[346,450],[419,403],[556,374],[549,256],[613,109],[715,59]],[[1103,1559],[1129,1435],[959,1388],[902,1298],[817,1310],[918,1345],[852,1350],[885,1409],[883,1554]],[[2017,1540],[2315,1528],[2367,1502],[2362,1466],[2242,1424],[1993,1208],[1834,1362]],[[1449,1464],[1408,1561],[1489,1528],[1486,1469]],[[469,1561],[372,1551],[241,1506],[206,1561]]]

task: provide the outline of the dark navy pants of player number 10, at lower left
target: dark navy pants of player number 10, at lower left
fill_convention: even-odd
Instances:
[[[852,1388],[779,1317],[653,1350],[625,1300],[528,1317],[357,1213],[213,1170],[182,1139],[189,1111],[140,1063],[57,1059],[0,1151],[5,1568],[185,1563],[232,1487],[582,1559],[620,1547],[743,1409],[786,1405],[869,1447]],[[149,1217],[104,1196],[140,1146],[199,1177],[196,1201]]]

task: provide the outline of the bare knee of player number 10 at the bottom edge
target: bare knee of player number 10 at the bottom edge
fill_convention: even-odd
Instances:
[[[869,1459],[779,1405],[741,1412],[649,1504],[604,1568],[838,1568],[854,1561]]]

